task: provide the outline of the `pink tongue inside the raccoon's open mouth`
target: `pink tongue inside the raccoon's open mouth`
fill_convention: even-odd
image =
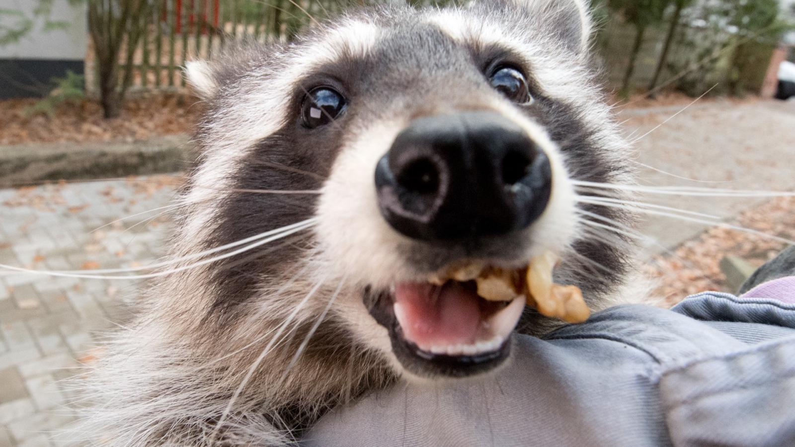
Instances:
[[[394,313],[405,339],[421,349],[474,344],[482,321],[478,300],[475,290],[456,282],[401,283],[394,290]]]

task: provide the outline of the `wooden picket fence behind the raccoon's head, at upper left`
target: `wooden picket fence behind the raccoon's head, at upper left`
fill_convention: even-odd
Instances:
[[[312,19],[320,20],[372,0],[142,0],[147,6],[145,31],[134,48],[123,45],[119,64],[133,68],[130,87],[184,87],[180,68],[188,60],[206,59],[227,39],[285,40]],[[452,1],[452,0],[450,0]],[[432,0],[412,0],[412,4]],[[444,3],[436,1],[434,3]],[[132,57],[127,55],[132,52]],[[97,91],[93,51],[86,60],[86,86]]]

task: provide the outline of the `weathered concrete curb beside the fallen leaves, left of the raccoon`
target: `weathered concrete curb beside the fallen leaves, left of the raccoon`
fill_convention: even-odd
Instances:
[[[0,188],[42,181],[173,173],[190,159],[188,135],[135,142],[60,142],[0,146]]]

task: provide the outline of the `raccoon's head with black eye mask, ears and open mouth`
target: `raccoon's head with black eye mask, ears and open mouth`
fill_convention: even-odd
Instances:
[[[319,191],[228,192],[186,220],[208,244],[316,221],[311,242],[218,273],[214,308],[267,305],[262,282],[319,272],[341,284],[330,321],[359,346],[398,373],[460,377],[506,360],[520,318],[537,315],[523,297],[486,301],[473,282],[434,286],[434,274],[553,251],[557,278],[595,305],[623,259],[579,231],[572,179],[624,176],[626,148],[591,79],[589,29],[581,0],[390,6],[189,65],[209,104],[192,185]]]

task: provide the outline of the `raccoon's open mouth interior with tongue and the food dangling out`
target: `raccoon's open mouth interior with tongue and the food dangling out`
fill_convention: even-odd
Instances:
[[[421,357],[476,358],[504,348],[525,305],[546,317],[585,321],[590,311],[580,289],[553,283],[557,261],[552,252],[520,269],[468,261],[427,282],[398,283],[391,293],[397,330]]]

